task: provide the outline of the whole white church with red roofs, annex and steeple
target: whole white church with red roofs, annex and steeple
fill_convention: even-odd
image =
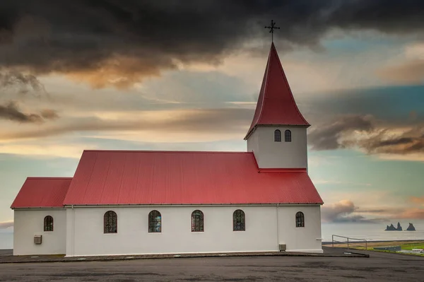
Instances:
[[[83,151],[25,180],[13,254],[321,253],[308,127],[272,43],[246,151]]]

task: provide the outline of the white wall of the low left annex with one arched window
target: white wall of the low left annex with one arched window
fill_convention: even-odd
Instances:
[[[53,231],[44,231],[45,216],[53,217]],[[34,244],[42,235],[42,244]],[[64,209],[27,209],[14,211],[13,254],[65,254],[66,211]]]

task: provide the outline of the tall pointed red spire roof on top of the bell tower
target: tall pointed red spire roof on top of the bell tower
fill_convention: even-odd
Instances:
[[[261,124],[310,126],[296,105],[273,43],[266,63],[257,108],[245,139],[257,125]]]

